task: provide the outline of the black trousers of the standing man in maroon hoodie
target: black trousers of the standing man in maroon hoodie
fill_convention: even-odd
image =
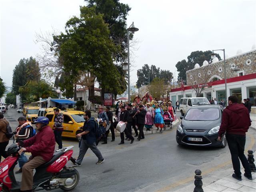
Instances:
[[[244,172],[247,175],[251,175],[250,165],[246,156],[244,155],[244,146],[246,142],[246,136],[236,134],[226,134],[228,148],[230,150],[233,169],[236,175],[241,176],[240,161],[244,167]]]

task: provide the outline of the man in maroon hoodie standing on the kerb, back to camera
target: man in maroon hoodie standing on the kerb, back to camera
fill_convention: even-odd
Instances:
[[[244,176],[252,180],[250,165],[244,155],[245,133],[250,126],[250,116],[247,108],[242,104],[238,104],[236,96],[228,97],[228,106],[223,111],[218,140],[221,140],[222,135],[226,132],[228,148],[234,168],[232,177],[237,180],[242,180],[239,159],[244,167]]]

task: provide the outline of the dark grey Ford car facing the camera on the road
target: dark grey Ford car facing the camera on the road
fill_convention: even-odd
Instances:
[[[176,131],[176,141],[182,145],[192,146],[226,146],[226,134],[218,141],[222,112],[220,105],[192,106],[182,119]]]

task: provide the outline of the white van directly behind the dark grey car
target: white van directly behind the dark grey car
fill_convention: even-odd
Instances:
[[[184,97],[180,99],[180,113],[184,116],[186,112],[195,105],[210,104],[205,97]]]

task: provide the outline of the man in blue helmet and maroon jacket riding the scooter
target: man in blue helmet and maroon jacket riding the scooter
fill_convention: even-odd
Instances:
[[[20,191],[32,191],[33,185],[33,169],[48,162],[54,153],[55,137],[49,124],[49,119],[46,117],[39,117],[35,121],[38,133],[24,141],[19,141],[18,145],[22,146],[19,154],[22,152],[30,152],[28,162],[22,166],[22,181]]]

